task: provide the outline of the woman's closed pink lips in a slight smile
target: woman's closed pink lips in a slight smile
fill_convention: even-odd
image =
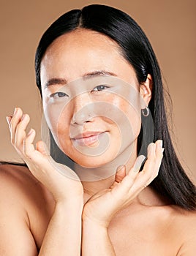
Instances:
[[[71,138],[73,143],[77,143],[78,146],[93,146],[95,143],[99,143],[99,137],[105,132],[83,132]]]

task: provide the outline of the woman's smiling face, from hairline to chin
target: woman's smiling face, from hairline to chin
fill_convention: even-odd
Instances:
[[[141,93],[135,70],[109,37],[86,29],[62,35],[46,51],[40,75],[48,127],[74,162],[99,167],[137,141],[146,88]]]

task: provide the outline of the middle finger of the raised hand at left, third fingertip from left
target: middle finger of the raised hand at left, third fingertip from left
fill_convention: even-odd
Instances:
[[[29,115],[24,114],[15,131],[15,147],[20,151],[23,151],[23,140],[26,139],[26,127],[29,121]]]

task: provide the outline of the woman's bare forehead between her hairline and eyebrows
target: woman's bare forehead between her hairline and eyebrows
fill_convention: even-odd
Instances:
[[[46,50],[41,63],[41,82],[53,77],[69,82],[87,72],[103,69],[116,73],[121,79],[128,73],[135,76],[121,48],[110,37],[97,31],[77,29],[58,37]]]

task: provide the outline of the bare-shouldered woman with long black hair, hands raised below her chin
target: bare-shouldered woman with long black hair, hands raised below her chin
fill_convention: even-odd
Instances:
[[[1,166],[1,255],[195,255],[195,186],[135,21],[97,4],[67,12],[42,36],[35,68],[56,162],[42,141],[34,148],[29,116],[16,108],[12,144],[30,172]]]

